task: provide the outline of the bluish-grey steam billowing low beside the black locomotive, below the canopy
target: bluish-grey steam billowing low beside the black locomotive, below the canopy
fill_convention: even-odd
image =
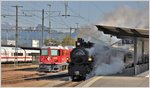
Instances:
[[[127,50],[112,48],[99,43],[87,51],[94,58],[94,67],[88,77],[115,74],[124,68],[123,59]]]

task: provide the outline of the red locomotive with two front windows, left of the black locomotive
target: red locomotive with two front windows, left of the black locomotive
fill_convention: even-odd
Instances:
[[[71,50],[62,46],[42,47],[39,71],[49,72],[67,69]]]

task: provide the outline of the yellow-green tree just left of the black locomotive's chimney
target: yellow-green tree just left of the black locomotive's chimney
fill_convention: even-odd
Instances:
[[[70,36],[66,36],[62,41],[63,46],[67,45],[75,45],[75,39],[71,38]]]

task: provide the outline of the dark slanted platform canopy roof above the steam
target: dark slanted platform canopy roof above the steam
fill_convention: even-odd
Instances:
[[[137,29],[137,28],[123,28],[114,26],[96,25],[99,31],[103,31],[104,34],[110,34],[117,38],[122,37],[138,37],[149,38],[149,30]]]

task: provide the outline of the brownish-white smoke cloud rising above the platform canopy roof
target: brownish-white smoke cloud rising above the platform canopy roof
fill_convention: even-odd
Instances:
[[[106,13],[103,21],[98,24],[130,27],[130,28],[149,28],[149,8],[132,9],[124,6]]]

